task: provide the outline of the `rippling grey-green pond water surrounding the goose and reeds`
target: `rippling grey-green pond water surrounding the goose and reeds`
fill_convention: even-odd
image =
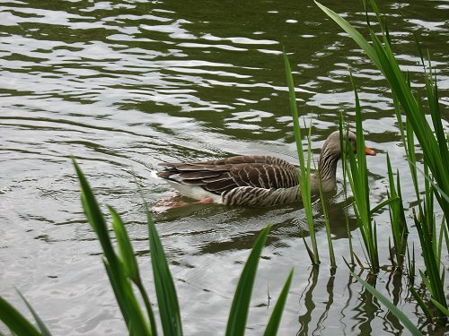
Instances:
[[[326,4],[365,27],[358,1]],[[447,127],[449,3],[383,1],[381,11],[398,59],[417,87],[422,81],[414,32],[432,55]],[[367,159],[372,203],[386,198],[388,151],[403,176],[411,215],[409,168],[387,84],[313,2],[4,0],[0,27],[0,294],[26,312],[14,290],[20,289],[55,335],[126,333],[100,244],[81,209],[70,157],[78,160],[101,203],[114,206],[128,223],[155,302],[145,213],[132,172],[156,206],[174,194],[151,176],[162,160],[251,153],[295,162],[283,46],[295,72],[300,114],[306,122],[312,118],[315,157],[337,129],[340,111],[354,125],[351,70],[366,142],[378,152]],[[292,267],[295,277],[279,335],[408,334],[349,276],[341,189],[339,184],[329,200],[339,264],[334,275],[319,204],[318,270],[305,251],[308,231],[299,206],[209,204],[155,212],[185,334],[225,332],[242,263],[269,222],[273,227],[260,261],[248,335],[263,332]],[[349,220],[363,258],[356,220],[352,215]],[[388,212],[376,222],[381,263],[388,266]],[[413,240],[418,246],[410,228]],[[422,261],[417,266],[424,269]],[[361,274],[365,279],[367,271]],[[384,267],[374,282],[424,333],[445,333],[426,323],[401,275]]]

